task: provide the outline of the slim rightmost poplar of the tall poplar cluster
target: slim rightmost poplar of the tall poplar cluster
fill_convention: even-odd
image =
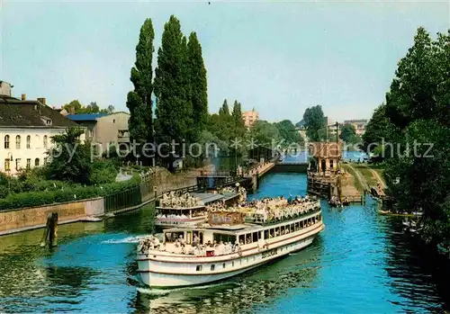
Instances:
[[[189,66],[190,98],[193,105],[195,138],[205,129],[208,119],[208,94],[206,68],[202,58],[202,46],[197,34],[191,32],[187,43],[187,62]]]

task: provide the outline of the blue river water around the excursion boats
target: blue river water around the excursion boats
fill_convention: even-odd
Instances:
[[[250,198],[306,193],[306,175],[267,175]],[[39,247],[43,230],[0,238],[0,312],[393,313],[448,309],[448,265],[412,245],[401,221],[373,202],[330,209],[311,247],[224,283],[149,290],[133,261],[153,209],[59,226],[59,245]],[[446,277],[447,276],[447,277]]]

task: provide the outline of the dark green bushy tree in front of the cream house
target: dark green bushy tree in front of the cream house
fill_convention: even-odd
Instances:
[[[63,134],[55,135],[55,144],[48,152],[48,177],[52,180],[80,184],[91,183],[91,150],[89,143],[81,143],[79,137],[84,130],[69,128]]]

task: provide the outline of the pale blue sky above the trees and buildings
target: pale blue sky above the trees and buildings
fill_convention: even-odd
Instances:
[[[316,104],[334,120],[370,118],[417,28],[450,28],[449,1],[0,2],[0,80],[16,96],[126,110],[142,22],[157,50],[175,14],[201,40],[210,112],[238,99],[268,121],[300,121]]]

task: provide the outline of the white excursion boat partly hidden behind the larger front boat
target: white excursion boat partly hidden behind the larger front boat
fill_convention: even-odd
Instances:
[[[220,193],[165,193],[156,207],[155,225],[160,228],[193,228],[208,219],[208,208],[227,205],[242,199],[242,188],[225,188]]]

